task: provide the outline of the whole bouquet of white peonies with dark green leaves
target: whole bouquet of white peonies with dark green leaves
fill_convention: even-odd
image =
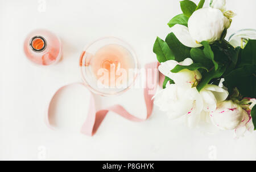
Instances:
[[[225,0],[203,5],[180,1],[183,14],[169,21],[171,33],[165,41],[156,38],[153,51],[165,79],[154,104],[189,127],[203,121],[243,136],[256,128],[256,40],[232,46],[225,36],[234,12]]]

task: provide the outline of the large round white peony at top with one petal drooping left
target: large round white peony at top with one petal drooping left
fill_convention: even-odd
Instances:
[[[216,8],[201,8],[193,12],[188,20],[188,27],[175,24],[171,31],[185,46],[197,48],[200,42],[210,43],[219,40],[222,32],[230,25],[230,20]]]

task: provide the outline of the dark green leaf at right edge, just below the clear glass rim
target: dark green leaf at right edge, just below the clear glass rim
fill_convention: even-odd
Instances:
[[[239,66],[256,65],[256,40],[249,40],[242,50]]]

